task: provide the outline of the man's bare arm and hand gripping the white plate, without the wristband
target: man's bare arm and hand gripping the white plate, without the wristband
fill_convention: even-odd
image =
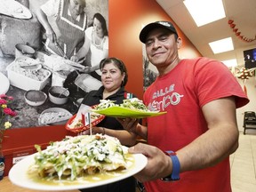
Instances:
[[[209,130],[188,146],[176,151],[180,160],[180,172],[218,164],[238,148],[235,99],[230,97],[213,100],[205,104],[202,110]],[[164,178],[172,172],[171,158],[159,148],[139,143],[129,148],[129,152],[148,156],[146,168],[135,175],[142,182]]]

